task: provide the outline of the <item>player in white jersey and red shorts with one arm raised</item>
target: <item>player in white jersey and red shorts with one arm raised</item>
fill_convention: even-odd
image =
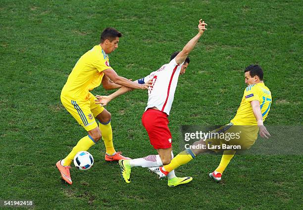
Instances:
[[[152,79],[153,84],[149,90],[149,100],[145,112],[142,116],[143,126],[146,128],[151,144],[157,150],[158,155],[149,155],[144,158],[119,161],[121,175],[125,182],[130,183],[130,173],[132,167],[141,166],[143,168],[159,167],[167,165],[173,158],[172,136],[168,128],[169,111],[174,100],[174,94],[178,83],[179,74],[185,73],[190,62],[189,53],[194,49],[198,40],[203,35],[207,26],[204,21],[199,21],[199,33],[195,35],[183,48],[181,52],[175,52],[171,56],[171,61],[163,65],[159,70],[153,71],[150,75],[138,79],[134,82],[143,84],[144,81]],[[97,104],[106,105],[117,96],[126,93],[130,89],[122,87],[110,96],[96,96]],[[154,169],[155,170],[155,169]],[[153,171],[154,171],[153,170]],[[190,182],[192,177],[177,177],[174,171],[168,175],[168,186],[177,186]]]

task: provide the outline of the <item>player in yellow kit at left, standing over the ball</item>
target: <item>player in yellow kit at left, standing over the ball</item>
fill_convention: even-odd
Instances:
[[[88,150],[101,138],[106,148],[106,161],[130,159],[123,157],[121,152],[115,151],[110,125],[111,115],[104,107],[95,104],[96,98],[90,92],[101,83],[106,90],[122,86],[132,89],[148,89],[151,86],[149,81],[145,84],[134,83],[119,76],[110,67],[108,54],[117,49],[121,36],[122,34],[114,28],[104,29],[100,44],[81,56],[61,91],[62,104],[88,132],[88,135],[79,140],[63,160],[56,163],[62,178],[69,184],[72,184],[69,169],[74,156],[79,151]],[[96,119],[99,121],[99,126]]]

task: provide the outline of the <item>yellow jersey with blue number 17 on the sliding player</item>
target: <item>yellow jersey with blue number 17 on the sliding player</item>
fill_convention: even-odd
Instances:
[[[260,102],[263,121],[265,120],[268,115],[272,99],[268,87],[266,87],[263,82],[259,82],[245,88],[237,114],[234,119],[231,120],[234,125],[257,125],[253,114],[253,108],[250,103],[254,100]]]

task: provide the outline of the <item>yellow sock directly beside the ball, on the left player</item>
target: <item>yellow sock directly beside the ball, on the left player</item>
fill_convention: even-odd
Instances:
[[[64,158],[63,166],[69,166],[73,161],[75,155],[80,151],[87,151],[95,142],[89,136],[83,137],[78,141],[77,145],[74,146],[72,151]]]

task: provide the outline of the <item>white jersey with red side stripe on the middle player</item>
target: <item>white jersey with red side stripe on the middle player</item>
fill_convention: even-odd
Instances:
[[[169,64],[164,64],[159,70],[138,80],[139,83],[144,83],[150,79],[154,82],[149,90],[149,101],[145,110],[156,107],[169,115],[182,65],[183,63],[178,65],[174,58]]]

